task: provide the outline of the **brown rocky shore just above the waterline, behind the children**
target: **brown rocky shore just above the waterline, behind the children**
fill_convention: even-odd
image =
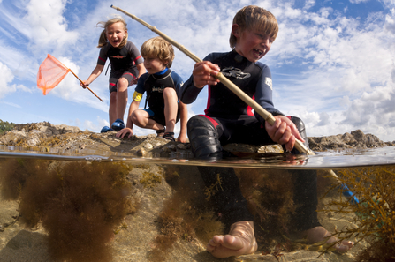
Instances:
[[[133,136],[119,139],[115,131],[95,133],[80,131],[78,127],[49,122],[16,124],[12,131],[0,136],[0,145],[19,146],[28,150],[52,153],[131,153],[138,156],[181,156],[190,158],[188,144],[169,142],[156,135]],[[361,130],[327,137],[308,138],[310,149],[315,152],[327,150],[364,149],[394,146],[395,141],[383,142],[373,134]],[[281,146],[227,145],[228,151],[282,152]]]

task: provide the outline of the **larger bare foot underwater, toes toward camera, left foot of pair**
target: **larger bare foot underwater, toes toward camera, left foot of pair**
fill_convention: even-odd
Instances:
[[[254,221],[233,223],[228,235],[213,236],[207,244],[207,251],[216,258],[251,254],[257,248],[258,245],[254,236]]]

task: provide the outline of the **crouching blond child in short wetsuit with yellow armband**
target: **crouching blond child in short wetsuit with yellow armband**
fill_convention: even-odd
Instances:
[[[170,67],[174,59],[171,44],[161,37],[145,41],[141,46],[141,55],[148,73],[139,79],[129,108],[126,128],[118,131],[117,137],[124,138],[127,133],[133,135],[133,124],[141,128],[156,130],[158,136],[175,141],[174,126],[181,120],[179,142],[186,143],[186,104],[179,101],[176,90],[183,85],[182,79]],[[146,106],[138,109],[142,94],[147,91]]]

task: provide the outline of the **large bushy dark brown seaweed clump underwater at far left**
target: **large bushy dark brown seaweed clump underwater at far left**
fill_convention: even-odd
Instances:
[[[126,213],[137,208],[127,165],[11,159],[3,173],[2,194],[18,198],[23,225],[46,230],[52,258],[111,260],[110,241]]]

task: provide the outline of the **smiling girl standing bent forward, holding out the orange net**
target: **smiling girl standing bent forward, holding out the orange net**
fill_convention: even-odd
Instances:
[[[103,132],[119,131],[125,127],[124,115],[127,105],[127,87],[137,83],[145,72],[139,50],[133,42],[127,40],[126,22],[121,17],[99,22],[104,28],[99,38],[100,49],[97,65],[82,87],[89,86],[103,71],[107,58],[110,59],[110,124],[104,126]]]

